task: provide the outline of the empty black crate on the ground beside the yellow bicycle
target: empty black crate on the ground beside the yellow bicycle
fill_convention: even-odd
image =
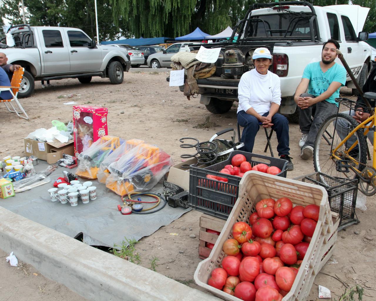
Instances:
[[[317,184],[325,188],[330,208],[333,212],[337,212],[340,218],[338,231],[354,223],[359,223],[355,213],[358,179],[334,178],[321,172],[315,172],[295,178],[295,180]]]

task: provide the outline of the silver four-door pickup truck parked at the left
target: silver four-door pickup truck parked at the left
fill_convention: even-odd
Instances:
[[[96,45],[80,29],[15,25],[9,28],[14,47],[0,49],[8,64],[25,68],[19,97],[33,93],[34,81],[77,78],[87,84],[92,76],[109,78],[111,84],[121,84],[124,71],[130,68],[130,58],[123,48]],[[5,44],[5,37],[0,39]]]

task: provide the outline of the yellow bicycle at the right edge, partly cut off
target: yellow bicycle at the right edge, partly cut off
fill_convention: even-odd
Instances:
[[[322,172],[337,178],[359,179],[359,190],[364,195],[376,193],[376,128],[375,108],[371,108],[367,99],[375,100],[376,93],[364,93],[367,108],[356,108],[356,100],[337,98],[336,101],[347,106],[347,113],[329,116],[318,130],[314,145],[313,162],[316,172]],[[362,123],[356,122],[352,114],[368,109],[370,117]],[[372,164],[368,150],[368,139],[373,145]]]

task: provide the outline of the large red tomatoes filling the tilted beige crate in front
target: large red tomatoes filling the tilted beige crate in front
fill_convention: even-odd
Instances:
[[[233,224],[222,267],[212,271],[208,284],[245,301],[282,300],[293,286],[319,211],[313,204],[293,207],[288,198],[259,201],[249,224]]]

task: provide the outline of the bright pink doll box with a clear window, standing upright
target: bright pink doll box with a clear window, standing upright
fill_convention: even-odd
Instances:
[[[74,154],[76,157],[107,132],[107,108],[73,106]]]

